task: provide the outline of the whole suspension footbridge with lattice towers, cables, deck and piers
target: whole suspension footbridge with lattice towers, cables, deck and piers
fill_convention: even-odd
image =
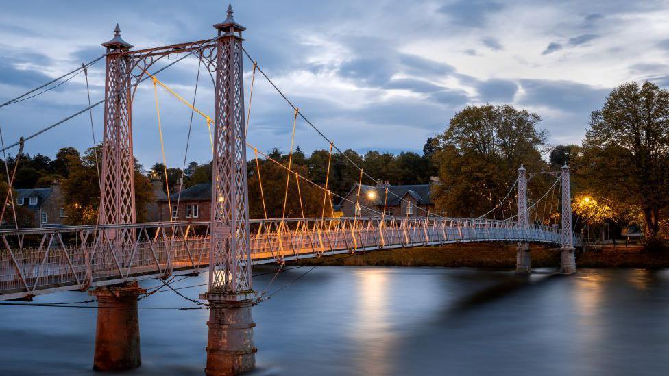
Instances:
[[[90,103],[89,93],[87,108],[21,138],[12,145],[5,146],[3,141],[2,146],[3,153],[18,146],[20,155],[25,142],[75,116],[89,112],[93,122],[91,109],[104,105],[97,224],[34,229],[16,227],[0,231],[0,300],[32,299],[41,294],[65,290],[88,290],[97,297],[96,369],[126,369],[141,364],[137,299],[145,290],[139,288],[137,282],[144,279],[165,280],[175,275],[208,271],[208,291],[201,297],[208,301],[206,305],[210,310],[206,373],[228,375],[254,367],[255,324],[251,309],[256,293],[250,273],[254,264],[283,264],[301,258],[426,245],[517,242],[519,273],[531,271],[530,243],[560,247],[561,272],[575,272],[574,247],[581,245],[581,239],[572,230],[570,174],[566,165],[561,171],[537,173],[527,172],[520,166],[518,177],[507,197],[489,212],[476,218],[448,218],[430,212],[396,217],[386,215],[385,210],[374,213],[373,208],[372,216],[356,214],[350,218],[326,217],[326,201],[332,205],[333,196],[336,196],[328,189],[329,161],[324,185],[315,184],[299,175],[291,166],[298,116],[328,142],[330,157],[333,149],[339,153],[341,149],[308,121],[243,49],[242,32],[245,27],[234,20],[232,8],[228,7],[227,18],[214,27],[217,36],[207,40],[133,50],[133,46],[121,38],[117,25],[112,40],[102,44],[106,47],[106,53],[100,58],[0,105],[4,107],[39,95],[39,90],[45,92],[50,90],[49,86],[53,88],[53,85],[66,82],[75,74],[82,71],[86,73],[87,68],[102,58],[106,61],[104,99]],[[181,56],[155,68],[160,65],[156,63],[170,55]],[[204,68],[212,79],[215,89],[213,116],[195,107],[195,97],[192,102],[187,101],[158,79],[162,71],[188,57],[199,60],[198,82],[200,68]],[[245,58],[253,64],[248,102],[244,98],[243,85]],[[293,111],[293,134],[287,164],[272,160],[247,142],[256,71],[267,79]],[[158,88],[167,90],[188,106],[191,110],[191,125],[193,114],[202,116],[208,125],[213,171],[210,221],[178,221],[175,218],[162,223],[136,221],[132,101],[138,86],[148,79],[151,79],[156,90],[161,147]],[[195,90],[197,93],[197,82]],[[163,162],[166,162],[164,147],[162,150]],[[247,150],[254,151],[256,166],[260,153],[286,171],[282,218],[267,218],[267,214],[265,218],[249,218]],[[7,165],[6,156],[4,159],[11,188],[14,176]],[[358,186],[363,183],[363,179],[367,179],[375,186],[382,187],[352,160],[348,162],[360,171]],[[167,168],[167,163],[164,166]],[[260,180],[259,167],[256,175]],[[550,177],[552,185],[539,199],[530,201],[528,180],[538,175]],[[320,217],[286,217],[291,177],[297,181],[298,192],[300,181],[316,186],[323,192]],[[167,188],[169,190],[169,184]],[[385,192],[389,194],[387,189]],[[263,193],[262,181],[260,193]],[[553,200],[556,195],[559,199]],[[265,198],[262,199],[264,208]],[[298,199],[302,207],[302,197]],[[356,201],[352,203],[359,207],[360,199],[358,191]],[[402,197],[398,199],[406,201]],[[4,208],[13,209],[12,202],[10,189]],[[415,205],[409,201],[406,204]],[[543,212],[540,209],[542,205]],[[507,206],[509,208],[505,212]],[[417,205],[415,208],[416,212],[424,211]],[[559,216],[553,218],[559,220],[551,221],[550,215],[556,212],[559,212]]]

